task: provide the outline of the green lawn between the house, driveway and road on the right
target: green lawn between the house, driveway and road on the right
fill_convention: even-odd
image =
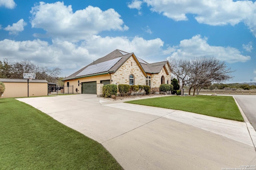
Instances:
[[[232,96],[166,96],[133,100],[127,103],[183,110],[235,121],[244,121]]]

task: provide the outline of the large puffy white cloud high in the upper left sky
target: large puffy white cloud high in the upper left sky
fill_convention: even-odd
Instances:
[[[73,42],[87,39],[101,31],[128,30],[114,9],[102,11],[98,7],[88,6],[73,12],[72,6],[65,6],[64,2],[40,2],[30,13],[32,27],[44,29],[48,37]]]

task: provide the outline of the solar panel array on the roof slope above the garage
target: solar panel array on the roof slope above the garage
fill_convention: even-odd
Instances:
[[[105,61],[105,62],[102,62],[102,63],[98,63],[98,64],[88,66],[84,70],[82,70],[79,74],[77,74],[76,77],[108,71],[121,58],[122,57],[119,57],[119,58],[116,58],[116,59],[112,59],[112,60],[109,60],[109,61]]]

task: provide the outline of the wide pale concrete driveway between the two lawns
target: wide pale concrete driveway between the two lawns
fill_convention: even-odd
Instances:
[[[88,94],[18,100],[98,141],[126,170],[256,165],[244,122],[110,102]]]

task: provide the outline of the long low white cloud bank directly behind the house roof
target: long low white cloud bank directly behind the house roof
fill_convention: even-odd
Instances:
[[[28,59],[48,68],[60,67],[63,75],[70,75],[92,61],[107,55],[115,49],[134,52],[146,61],[161,51],[164,42],[161,39],[145,40],[141,37],[100,37],[92,36],[80,43],[71,43],[60,39],[52,44],[39,39],[33,41],[0,41],[0,60],[22,61]],[[147,58],[146,58],[147,57]]]

